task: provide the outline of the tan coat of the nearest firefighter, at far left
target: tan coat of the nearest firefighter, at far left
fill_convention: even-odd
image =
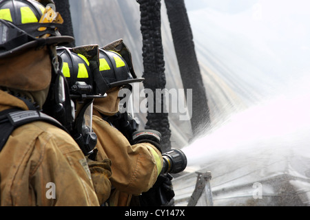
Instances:
[[[0,111],[24,102],[0,90]],[[47,122],[15,129],[0,152],[1,206],[99,206],[72,137]]]

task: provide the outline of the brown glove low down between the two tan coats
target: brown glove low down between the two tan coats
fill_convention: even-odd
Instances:
[[[103,159],[103,161],[99,162],[87,158],[87,163],[90,168],[92,183],[94,185],[99,203],[103,204],[110,197],[111,193],[111,159]]]

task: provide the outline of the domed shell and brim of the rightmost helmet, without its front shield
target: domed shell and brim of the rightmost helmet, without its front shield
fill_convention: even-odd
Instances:
[[[99,49],[99,71],[110,88],[142,82],[144,78],[132,76],[130,67],[118,52]]]

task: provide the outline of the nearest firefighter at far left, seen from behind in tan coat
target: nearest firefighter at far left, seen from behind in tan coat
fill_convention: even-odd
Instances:
[[[1,117],[46,112],[64,126],[37,120],[12,131],[0,152],[1,206],[99,206],[85,155],[67,131],[74,115],[56,45],[74,39],[59,34],[61,23],[37,1],[0,1]]]

